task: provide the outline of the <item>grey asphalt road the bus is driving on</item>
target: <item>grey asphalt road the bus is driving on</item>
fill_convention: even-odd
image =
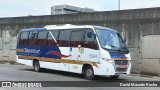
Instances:
[[[102,84],[98,80],[111,81],[108,77],[96,77],[96,84]],[[0,64],[0,81],[87,81],[82,75],[60,72],[54,70],[45,70],[43,72],[34,72],[33,68],[25,65]],[[160,81],[159,77],[139,77],[136,75],[122,75],[117,82],[123,81]],[[133,89],[133,90],[159,90],[159,88],[147,87],[51,87],[51,88],[23,88],[23,90],[116,90],[116,89]],[[22,90],[22,88],[0,88],[0,90]]]

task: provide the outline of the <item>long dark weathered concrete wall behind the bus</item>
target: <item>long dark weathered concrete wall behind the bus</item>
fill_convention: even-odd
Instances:
[[[12,35],[16,32],[16,26],[22,28],[30,27],[43,27],[44,25],[53,24],[93,24],[107,26],[124,33],[127,36],[127,45],[131,52],[132,57],[132,72],[144,73],[144,67],[148,63],[146,59],[142,59],[142,37],[153,34],[160,34],[160,8],[148,9],[135,9],[135,10],[121,10],[121,11],[107,11],[107,12],[92,12],[92,13],[78,13],[71,15],[47,15],[47,16],[28,16],[28,17],[13,17],[13,18],[0,18],[0,53],[9,47],[10,53],[14,53],[15,43],[7,43],[16,41]],[[3,34],[4,31],[9,30],[12,34],[5,41]],[[13,49],[11,49],[13,45]],[[153,45],[154,46],[154,45]],[[12,52],[13,51],[13,52]],[[1,54],[1,60],[4,54]],[[9,54],[15,60],[14,54]],[[8,59],[9,60],[9,59]],[[153,60],[154,62],[154,60]],[[157,67],[151,67],[153,70]],[[160,68],[159,68],[160,69]],[[145,72],[146,73],[146,72]],[[150,71],[148,71],[150,73]]]

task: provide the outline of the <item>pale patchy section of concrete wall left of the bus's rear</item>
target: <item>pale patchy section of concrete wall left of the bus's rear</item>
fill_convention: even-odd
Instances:
[[[0,38],[0,60],[15,61],[16,60],[16,36],[10,36],[9,30],[2,31]]]

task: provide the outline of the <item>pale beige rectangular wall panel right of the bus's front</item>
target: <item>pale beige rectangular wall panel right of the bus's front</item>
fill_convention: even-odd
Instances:
[[[141,72],[160,75],[160,35],[142,36]]]

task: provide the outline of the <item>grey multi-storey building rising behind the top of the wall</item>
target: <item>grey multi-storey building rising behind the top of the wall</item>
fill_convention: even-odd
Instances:
[[[51,7],[51,15],[59,15],[59,14],[73,14],[79,12],[94,12],[95,10],[90,8],[80,8],[69,5],[55,5]]]

